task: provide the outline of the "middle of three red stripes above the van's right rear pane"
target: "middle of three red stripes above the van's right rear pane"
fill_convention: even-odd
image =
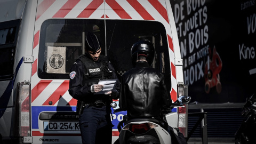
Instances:
[[[127,0],[127,2],[140,14],[145,20],[155,20],[137,0]]]

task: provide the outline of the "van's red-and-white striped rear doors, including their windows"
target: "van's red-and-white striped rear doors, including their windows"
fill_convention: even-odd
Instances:
[[[167,80],[177,99],[176,73],[179,47],[169,1],[38,1],[35,18],[31,76],[31,135],[33,143],[81,143],[76,102],[68,93],[69,69],[84,53],[83,39],[93,31],[102,42],[119,76],[131,69],[130,49],[138,38],[148,38],[156,47],[154,67]],[[178,58],[178,57],[177,57]],[[124,113],[113,115],[115,126]],[[113,135],[118,136],[116,127]],[[70,137],[69,137],[70,136]]]

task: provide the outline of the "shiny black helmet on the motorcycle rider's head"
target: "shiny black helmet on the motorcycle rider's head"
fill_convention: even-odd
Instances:
[[[135,65],[137,58],[140,54],[145,55],[145,57],[147,57],[147,61],[151,66],[155,57],[155,48],[154,45],[148,39],[139,39],[138,42],[132,45],[131,57],[133,66]]]

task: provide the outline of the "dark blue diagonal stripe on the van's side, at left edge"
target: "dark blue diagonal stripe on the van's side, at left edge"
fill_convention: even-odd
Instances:
[[[17,66],[16,69],[15,69],[15,75],[14,75],[14,77],[13,77],[13,81],[10,81],[10,82],[9,82],[9,84],[8,84],[8,86],[6,87],[6,89],[5,89],[4,93],[3,93],[3,95],[1,95],[1,97],[0,97],[0,107],[3,108],[3,109],[0,110],[0,112],[1,112],[1,113],[0,113],[0,118],[4,115],[4,112],[5,112],[6,108],[7,108],[8,102],[9,102],[9,100],[10,100],[10,98],[11,98],[12,89],[13,89],[13,84],[14,84],[14,82],[15,82],[16,76],[17,76],[17,74],[18,74],[18,71],[19,71],[19,69],[20,69],[20,66],[21,66],[22,62],[23,62],[23,57],[21,58],[21,60],[20,60],[19,63],[18,63],[18,66]]]

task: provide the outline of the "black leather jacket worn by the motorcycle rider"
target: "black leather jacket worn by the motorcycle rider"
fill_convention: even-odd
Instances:
[[[139,61],[122,76],[119,107],[129,118],[158,117],[169,108],[172,100],[166,90],[163,74]]]

